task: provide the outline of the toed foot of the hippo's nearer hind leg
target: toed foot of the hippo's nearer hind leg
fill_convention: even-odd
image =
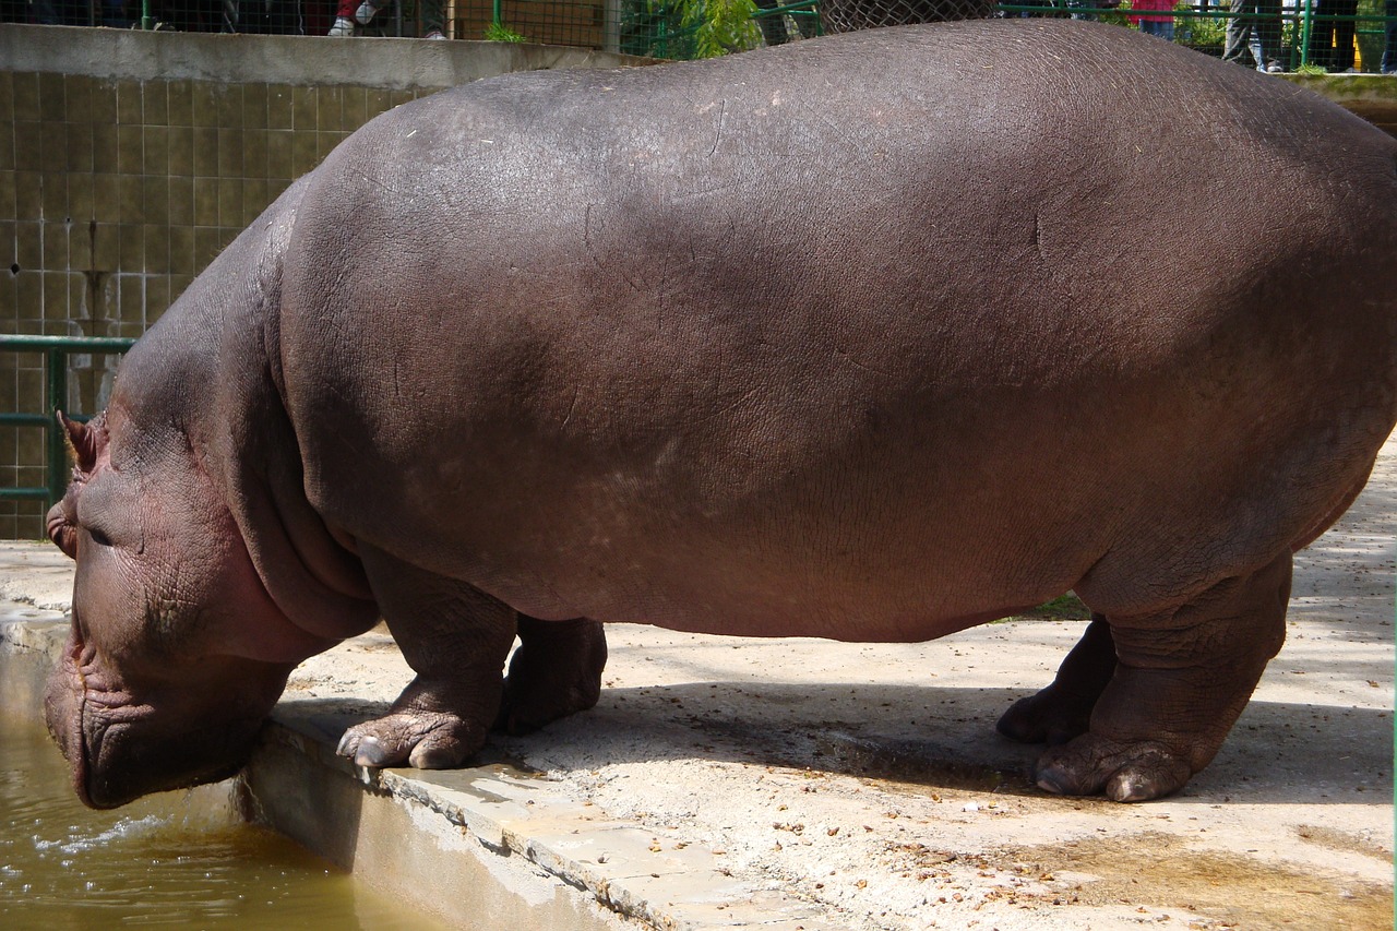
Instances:
[[[1013,710],[1013,709],[1010,709]],[[1183,788],[1193,767],[1158,741],[1112,741],[1095,734],[1053,746],[1038,758],[1034,781],[1059,795],[1105,793],[1112,801],[1148,801]]]

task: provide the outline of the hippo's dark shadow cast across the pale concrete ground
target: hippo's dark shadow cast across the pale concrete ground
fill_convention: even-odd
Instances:
[[[999,737],[1011,689],[789,686],[750,682],[616,688],[597,709],[527,737],[492,735],[482,759],[534,769],[722,760],[810,769],[936,790],[1049,798],[1030,772],[1039,746]],[[278,717],[313,721],[327,742],[383,703],[306,699]],[[1253,702],[1213,765],[1176,800],[1255,804],[1386,804],[1391,714],[1373,709]]]

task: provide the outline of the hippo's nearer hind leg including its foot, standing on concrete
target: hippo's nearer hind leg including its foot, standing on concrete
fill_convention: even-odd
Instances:
[[[1178,791],[1222,746],[1285,640],[1291,554],[1144,618],[1108,615],[1116,667],[1091,728],[1038,758],[1065,795],[1146,801]]]

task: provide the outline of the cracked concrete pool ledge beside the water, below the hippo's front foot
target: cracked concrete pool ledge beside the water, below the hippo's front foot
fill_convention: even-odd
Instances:
[[[334,755],[353,717],[278,713],[244,780],[265,823],[419,907],[499,928],[826,928],[733,879],[700,844],[608,818],[486,752],[469,769],[365,770]]]

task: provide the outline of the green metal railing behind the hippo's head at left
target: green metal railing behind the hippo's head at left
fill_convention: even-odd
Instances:
[[[0,428],[32,428],[46,432],[45,436],[45,485],[29,488],[0,488],[0,498],[46,500],[49,505],[63,498],[68,485],[68,461],[66,438],[57,422],[57,411],[68,397],[67,356],[73,354],[122,354],[131,348],[136,340],[117,337],[45,337],[45,335],[0,335],[0,352],[43,354],[45,390],[43,412],[0,412]],[[70,414],[71,419],[87,421],[88,415]]]

